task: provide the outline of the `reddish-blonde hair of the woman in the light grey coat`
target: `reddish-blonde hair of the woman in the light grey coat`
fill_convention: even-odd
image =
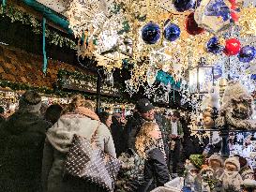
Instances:
[[[73,112],[79,107],[88,108],[91,111],[94,111],[92,102],[90,100],[85,100],[85,98],[79,94],[79,95],[72,96],[72,100],[68,104],[68,107],[65,110],[65,113]]]

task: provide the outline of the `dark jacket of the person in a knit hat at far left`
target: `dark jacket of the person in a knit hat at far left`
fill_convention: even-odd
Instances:
[[[45,132],[51,125],[36,113],[16,112],[2,126],[0,191],[41,191],[40,175]],[[1,136],[3,136],[1,135]]]

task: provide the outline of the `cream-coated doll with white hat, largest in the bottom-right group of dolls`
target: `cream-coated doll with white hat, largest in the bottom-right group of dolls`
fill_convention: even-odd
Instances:
[[[239,174],[240,163],[237,156],[229,157],[224,162],[224,172],[219,178],[222,181],[222,192],[240,192],[243,179]]]

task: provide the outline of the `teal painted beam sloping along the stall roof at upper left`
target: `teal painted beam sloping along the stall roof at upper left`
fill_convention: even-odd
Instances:
[[[69,22],[58,16],[53,9],[46,7],[40,3],[38,3],[36,0],[22,0],[23,3],[29,7],[34,8],[38,12],[42,13],[43,17],[47,20],[54,22],[56,25],[62,27],[65,29],[68,34],[73,34],[72,30],[68,28]]]

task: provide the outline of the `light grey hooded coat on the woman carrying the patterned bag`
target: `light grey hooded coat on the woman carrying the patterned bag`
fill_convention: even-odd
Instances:
[[[90,140],[98,127],[96,142],[105,153],[115,155],[113,138],[107,126],[79,114],[62,116],[48,130],[42,161],[42,184],[44,192],[98,192],[98,186],[83,181],[63,180],[63,166],[73,135]]]

